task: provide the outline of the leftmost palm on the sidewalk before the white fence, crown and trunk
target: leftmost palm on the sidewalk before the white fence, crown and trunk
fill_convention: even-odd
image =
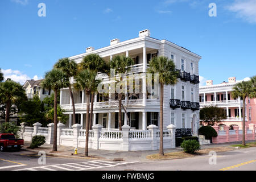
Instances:
[[[57,151],[57,93],[61,88],[67,88],[70,84],[68,76],[58,68],[53,68],[51,71],[47,72],[45,77],[41,85],[44,88],[54,90],[54,134],[52,151]]]

